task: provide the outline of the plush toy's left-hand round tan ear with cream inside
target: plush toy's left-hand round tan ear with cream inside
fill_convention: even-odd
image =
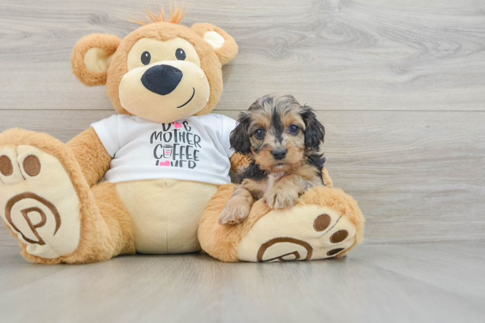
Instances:
[[[121,39],[113,35],[92,34],[74,46],[71,54],[72,72],[87,86],[105,85],[111,55]]]

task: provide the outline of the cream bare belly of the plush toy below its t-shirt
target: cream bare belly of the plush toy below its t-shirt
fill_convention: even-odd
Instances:
[[[135,226],[135,248],[148,254],[200,250],[197,226],[217,185],[178,180],[116,184]]]

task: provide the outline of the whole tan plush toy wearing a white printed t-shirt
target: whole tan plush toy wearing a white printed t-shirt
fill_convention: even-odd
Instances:
[[[290,210],[258,201],[241,225],[217,224],[235,187],[228,172],[246,163],[230,149],[235,121],[210,113],[238,46],[211,24],[180,25],[182,17],[177,7],[167,21],[148,11],[123,40],[94,34],[75,45],[74,74],[106,85],[118,115],[66,144],[22,129],[0,134],[0,215],[28,261],[201,248],[225,261],[308,260],[362,241],[356,202],[331,188],[326,170],[326,187]]]

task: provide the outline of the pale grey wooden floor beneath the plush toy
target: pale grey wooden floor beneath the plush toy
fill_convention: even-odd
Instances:
[[[1,321],[479,323],[484,250],[483,242],[363,245],[310,262],[194,254],[47,266],[0,247]]]

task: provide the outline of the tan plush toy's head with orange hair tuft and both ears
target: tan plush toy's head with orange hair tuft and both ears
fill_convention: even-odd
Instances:
[[[179,25],[182,8],[149,11],[148,23],[123,40],[93,34],[71,56],[73,73],[87,86],[106,85],[113,107],[160,123],[207,114],[222,94],[222,65],[238,52],[234,39],[208,23]]]

